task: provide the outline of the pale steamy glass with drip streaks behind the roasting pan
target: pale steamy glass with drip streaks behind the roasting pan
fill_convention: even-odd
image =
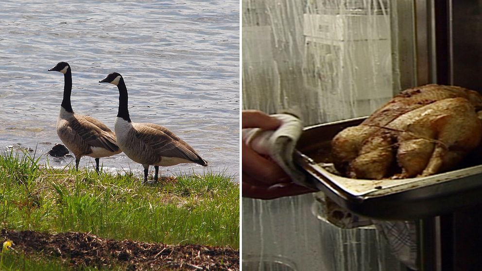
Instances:
[[[393,3],[242,0],[243,109],[295,113],[305,125],[371,114],[398,91]],[[402,270],[374,227],[337,228],[313,204],[243,198],[243,268]]]

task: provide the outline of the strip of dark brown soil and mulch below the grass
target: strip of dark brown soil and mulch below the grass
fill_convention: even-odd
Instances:
[[[53,256],[80,267],[125,267],[126,270],[240,270],[240,253],[228,247],[164,245],[112,240],[86,233],[48,234],[1,231],[2,242],[13,241],[17,252]]]

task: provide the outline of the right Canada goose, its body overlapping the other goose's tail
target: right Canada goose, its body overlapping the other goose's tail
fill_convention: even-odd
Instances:
[[[159,166],[169,167],[180,163],[207,166],[206,160],[167,128],[157,124],[131,121],[127,110],[127,88],[121,74],[113,72],[99,83],[110,83],[119,88],[119,112],[114,123],[117,142],[129,158],[142,164],[144,182],[147,182],[150,165],[154,165],[155,168],[155,182],[157,182]]]

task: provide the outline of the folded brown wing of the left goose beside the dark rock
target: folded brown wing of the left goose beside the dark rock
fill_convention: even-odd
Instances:
[[[111,152],[119,151],[116,134],[105,124],[89,116],[75,115],[70,122],[72,130],[93,147],[100,147]]]

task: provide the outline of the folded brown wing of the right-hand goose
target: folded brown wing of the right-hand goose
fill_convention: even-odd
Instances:
[[[188,143],[167,128],[152,123],[138,123],[135,129],[136,137],[152,148],[156,156],[179,157],[203,166],[207,165]]]

